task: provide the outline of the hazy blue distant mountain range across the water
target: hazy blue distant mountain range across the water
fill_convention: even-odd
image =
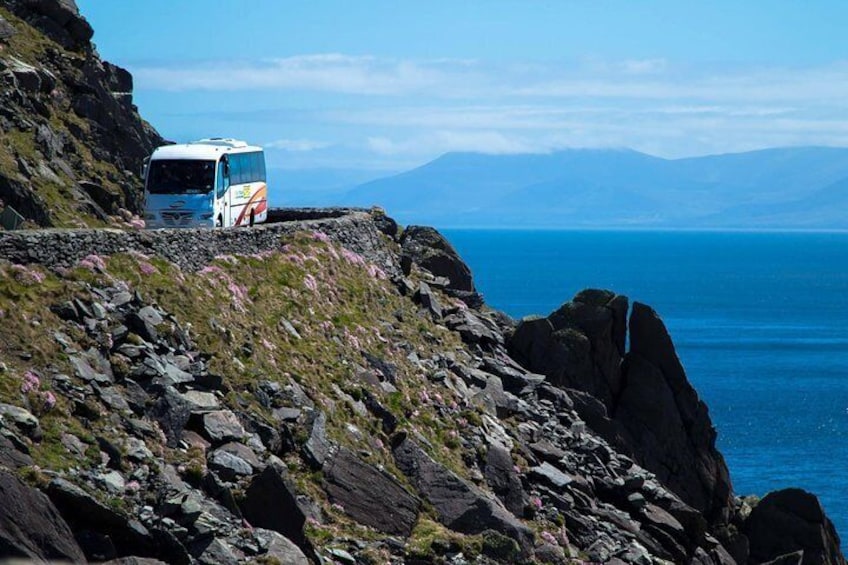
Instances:
[[[440,227],[848,229],[848,149],[448,153],[332,198]]]

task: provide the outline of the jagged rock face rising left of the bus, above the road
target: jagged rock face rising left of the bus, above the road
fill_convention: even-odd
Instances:
[[[139,212],[142,159],[163,143],[132,76],[100,60],[74,0],[0,5],[0,200],[39,226]]]

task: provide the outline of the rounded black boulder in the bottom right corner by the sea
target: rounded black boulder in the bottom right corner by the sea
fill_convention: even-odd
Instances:
[[[801,563],[844,564],[839,536],[818,498],[791,488],[769,493],[744,523],[750,542],[750,561],[790,559],[803,551]]]

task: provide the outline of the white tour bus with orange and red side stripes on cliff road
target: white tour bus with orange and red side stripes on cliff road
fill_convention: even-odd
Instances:
[[[252,226],[268,216],[265,154],[244,141],[158,147],[144,179],[148,228]]]

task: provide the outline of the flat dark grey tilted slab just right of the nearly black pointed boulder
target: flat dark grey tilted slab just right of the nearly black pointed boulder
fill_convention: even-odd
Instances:
[[[324,464],[324,490],[354,520],[391,535],[407,537],[421,507],[397,479],[346,448]]]

